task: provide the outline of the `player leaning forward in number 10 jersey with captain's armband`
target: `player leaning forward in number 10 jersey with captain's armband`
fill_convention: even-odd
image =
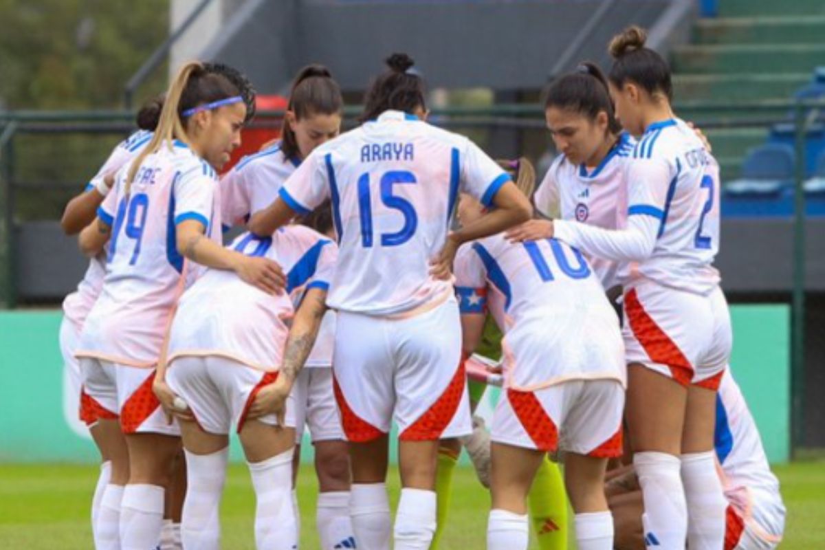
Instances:
[[[530,194],[534,182],[520,181]],[[461,195],[462,223],[487,215]],[[527,493],[544,454],[563,449],[577,548],[611,550],[603,483],[608,458],[621,454],[625,364],[601,284],[577,250],[553,239],[514,243],[494,235],[462,247],[455,264],[464,352],[481,340],[488,302],[504,333],[487,548],[527,548]]]

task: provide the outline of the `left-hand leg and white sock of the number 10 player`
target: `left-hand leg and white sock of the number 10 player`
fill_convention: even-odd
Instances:
[[[490,491],[493,504],[487,525],[488,550],[526,549],[529,540],[527,493],[544,452],[493,443]]]

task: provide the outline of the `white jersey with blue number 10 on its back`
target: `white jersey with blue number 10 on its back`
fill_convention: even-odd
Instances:
[[[479,297],[488,288],[504,300],[507,387],[576,378],[625,383],[619,322],[579,251],[555,239],[514,243],[497,234],[461,247],[455,266],[462,313],[484,313]],[[542,337],[552,350],[536,362],[526,348]],[[611,346],[596,346],[604,341]]]

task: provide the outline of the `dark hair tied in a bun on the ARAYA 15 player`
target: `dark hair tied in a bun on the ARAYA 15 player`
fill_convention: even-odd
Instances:
[[[361,122],[373,120],[385,110],[411,113],[427,108],[424,79],[411,70],[415,64],[413,59],[407,54],[392,54],[384,63],[387,63],[389,71],[375,78],[366,92]]]

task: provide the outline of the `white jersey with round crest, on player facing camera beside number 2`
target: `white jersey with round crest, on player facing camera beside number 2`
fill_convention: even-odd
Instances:
[[[624,225],[627,209],[625,165],[636,141],[624,132],[606,157],[591,171],[575,165],[564,155],[556,157],[533,195],[535,208],[546,217],[559,205],[561,219],[589,223],[598,228],[615,229]],[[587,255],[605,289],[619,283],[617,262]]]

